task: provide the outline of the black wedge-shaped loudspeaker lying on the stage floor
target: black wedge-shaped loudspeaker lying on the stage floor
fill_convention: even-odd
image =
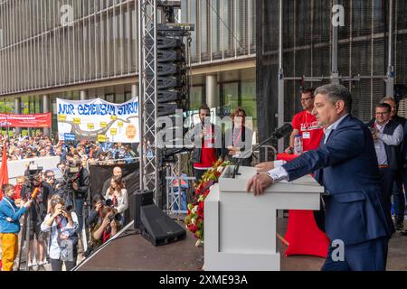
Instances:
[[[186,237],[186,231],[156,205],[141,207],[141,234],[154,246],[166,245]]]

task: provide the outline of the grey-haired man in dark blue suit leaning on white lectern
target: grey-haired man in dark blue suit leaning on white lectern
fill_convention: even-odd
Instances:
[[[385,270],[392,219],[383,206],[374,140],[364,124],[350,115],[352,98],[341,85],[329,84],[315,92],[314,115],[324,128],[316,150],[274,168],[262,163],[247,183],[260,195],[275,182],[293,181],[310,172],[327,191],[325,228],[331,247],[322,270]],[[344,245],[336,258],[336,244]]]

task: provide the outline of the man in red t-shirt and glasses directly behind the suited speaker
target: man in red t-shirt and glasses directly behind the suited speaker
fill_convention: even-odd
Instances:
[[[288,154],[293,154],[296,135],[301,135],[304,152],[316,149],[324,136],[322,127],[318,126],[317,118],[312,114],[314,97],[314,89],[301,90],[301,105],[304,110],[292,119],[293,130],[289,136],[289,147],[286,149]]]

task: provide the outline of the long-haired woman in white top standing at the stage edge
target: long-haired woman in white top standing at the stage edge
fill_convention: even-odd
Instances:
[[[111,179],[105,199],[111,200],[111,206],[118,210],[118,213],[121,215],[120,222],[123,225],[125,210],[128,210],[128,190],[125,189],[121,177],[113,177]]]

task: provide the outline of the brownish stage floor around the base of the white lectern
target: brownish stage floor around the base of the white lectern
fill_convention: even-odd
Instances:
[[[284,235],[287,219],[278,222],[279,233]],[[189,232],[185,240],[160,247],[140,235],[120,237],[85,260],[78,271],[199,271],[204,266],[204,248],[195,247],[195,242]],[[285,247],[278,243],[283,252]],[[323,263],[324,259],[316,256],[285,257],[281,253],[282,271],[319,271]],[[407,271],[407,237],[399,233],[390,240],[387,270]]]

